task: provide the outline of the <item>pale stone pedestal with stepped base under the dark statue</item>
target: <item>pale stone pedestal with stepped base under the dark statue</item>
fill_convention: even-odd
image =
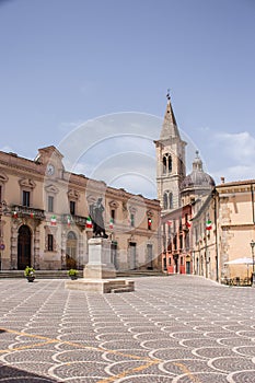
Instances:
[[[89,262],[83,278],[66,281],[66,289],[108,292],[135,290],[132,280],[116,278],[116,269],[111,262],[111,241],[103,237],[89,240]]]

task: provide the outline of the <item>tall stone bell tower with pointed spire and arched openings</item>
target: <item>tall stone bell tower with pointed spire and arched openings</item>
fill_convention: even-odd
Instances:
[[[155,140],[157,150],[157,188],[162,214],[181,207],[179,186],[186,175],[185,147],[182,140],[170,93],[160,139]]]

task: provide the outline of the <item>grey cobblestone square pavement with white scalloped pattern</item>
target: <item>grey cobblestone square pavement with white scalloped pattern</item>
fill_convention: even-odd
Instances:
[[[0,383],[255,383],[255,289],[193,276],[136,291],[0,280]]]

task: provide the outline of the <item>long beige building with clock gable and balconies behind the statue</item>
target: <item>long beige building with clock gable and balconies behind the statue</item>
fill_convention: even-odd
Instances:
[[[0,152],[0,268],[82,268],[90,206],[103,198],[112,260],[119,271],[161,269],[160,204],[65,170],[55,147],[34,161]]]

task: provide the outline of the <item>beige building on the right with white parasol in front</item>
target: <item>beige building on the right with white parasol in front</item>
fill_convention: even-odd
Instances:
[[[194,274],[219,282],[251,282],[255,240],[255,181],[222,183],[194,205]],[[211,230],[207,230],[207,221]],[[250,264],[242,263],[250,258]],[[240,259],[237,264],[234,264]]]

